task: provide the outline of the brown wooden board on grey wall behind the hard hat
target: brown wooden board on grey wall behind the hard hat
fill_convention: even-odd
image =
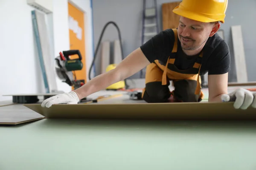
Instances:
[[[180,3],[181,1],[162,4],[163,30],[178,27],[180,16],[173,13],[172,10]]]

